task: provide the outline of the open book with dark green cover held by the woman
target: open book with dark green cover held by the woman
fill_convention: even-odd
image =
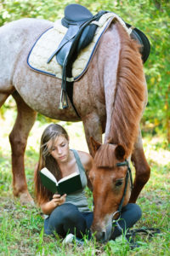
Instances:
[[[79,189],[82,189],[81,177],[77,172],[73,172],[70,175],[61,178],[59,182],[57,182],[54,175],[49,172],[46,167],[44,167],[40,171],[40,177],[42,184],[46,187],[46,189],[54,194],[58,192],[59,195],[69,195]]]

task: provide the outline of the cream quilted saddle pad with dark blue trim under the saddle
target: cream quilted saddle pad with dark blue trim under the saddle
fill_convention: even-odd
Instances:
[[[96,46],[99,43],[99,39],[114,19],[121,22],[122,26],[127,30],[127,26],[124,21],[114,13],[107,13],[102,15],[99,21],[93,21],[92,23],[98,25],[94,39],[86,48],[80,51],[77,56],[77,60],[74,61],[72,65],[73,79],[67,78],[68,81],[76,81],[82,77],[83,73],[86,72],[88,64],[94,55]],[[28,55],[27,63],[29,67],[37,72],[62,79],[62,67],[56,61],[55,56],[49,63],[47,63],[47,61],[49,56],[51,56],[58,48],[60,41],[65,36],[65,32],[67,32],[67,28],[61,25],[61,20],[55,21],[53,27],[43,32],[42,35],[37,38],[36,43],[33,45]]]

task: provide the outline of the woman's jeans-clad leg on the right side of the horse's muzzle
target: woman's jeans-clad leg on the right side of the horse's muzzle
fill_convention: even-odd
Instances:
[[[118,221],[122,230],[115,226],[111,234],[111,239],[115,240],[117,236],[122,235],[122,232],[124,233],[127,229],[132,228],[133,224],[135,224],[141,216],[142,211],[136,204],[129,203],[126,207],[122,207],[121,219]]]

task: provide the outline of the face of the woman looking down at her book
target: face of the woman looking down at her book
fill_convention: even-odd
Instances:
[[[58,163],[65,163],[69,158],[69,141],[64,136],[59,136],[55,139],[54,145],[52,141],[48,142],[50,154]]]

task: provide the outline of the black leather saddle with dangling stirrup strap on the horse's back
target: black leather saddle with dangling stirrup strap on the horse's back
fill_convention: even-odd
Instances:
[[[63,67],[62,72],[62,84],[61,84],[61,96],[59,108],[67,108],[67,96],[69,96],[72,106],[77,113],[77,109],[74,107],[72,102],[72,90],[73,80],[71,81],[71,67],[72,63],[77,59],[77,55],[80,50],[88,46],[94,38],[94,33],[97,29],[97,25],[93,24],[92,21],[98,21],[99,18],[107,13],[107,11],[99,11],[97,15],[92,13],[80,4],[70,4],[65,8],[65,17],[61,20],[61,24],[68,28],[65,33],[65,37],[59,44],[59,47],[49,57],[49,61],[56,55],[56,60],[59,65]],[[70,82],[67,80],[70,79]],[[66,86],[67,83],[69,86]],[[78,114],[78,113],[77,113]]]

